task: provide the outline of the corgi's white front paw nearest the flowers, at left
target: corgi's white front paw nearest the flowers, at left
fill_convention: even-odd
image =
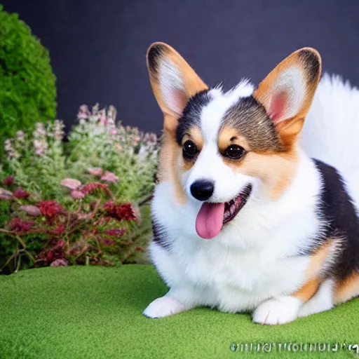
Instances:
[[[184,304],[177,299],[165,295],[164,297],[157,298],[154,302],[151,302],[151,304],[144,309],[143,314],[149,318],[163,318],[181,313],[182,311],[187,311],[187,309],[189,308],[184,306]]]

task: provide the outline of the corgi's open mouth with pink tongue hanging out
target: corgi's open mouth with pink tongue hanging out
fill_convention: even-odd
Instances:
[[[196,218],[198,236],[210,239],[221,231],[222,226],[230,222],[247,203],[252,192],[252,185],[248,184],[236,198],[225,203],[204,202]]]

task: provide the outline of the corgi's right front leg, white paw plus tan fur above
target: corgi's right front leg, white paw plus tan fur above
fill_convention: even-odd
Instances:
[[[291,295],[267,299],[259,304],[253,312],[253,322],[276,325],[296,320],[303,304],[316,294],[319,285],[320,280],[312,278]]]

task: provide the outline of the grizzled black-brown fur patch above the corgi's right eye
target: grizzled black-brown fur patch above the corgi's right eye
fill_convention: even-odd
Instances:
[[[233,127],[248,141],[252,151],[284,151],[276,127],[266,114],[266,109],[255,97],[244,97],[226,111],[220,131]]]

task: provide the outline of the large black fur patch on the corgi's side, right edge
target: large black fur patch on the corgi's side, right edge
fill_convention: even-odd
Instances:
[[[323,179],[318,214],[329,223],[322,238],[343,238],[341,253],[332,271],[337,279],[344,279],[359,271],[359,218],[339,172],[321,161],[313,161]]]

